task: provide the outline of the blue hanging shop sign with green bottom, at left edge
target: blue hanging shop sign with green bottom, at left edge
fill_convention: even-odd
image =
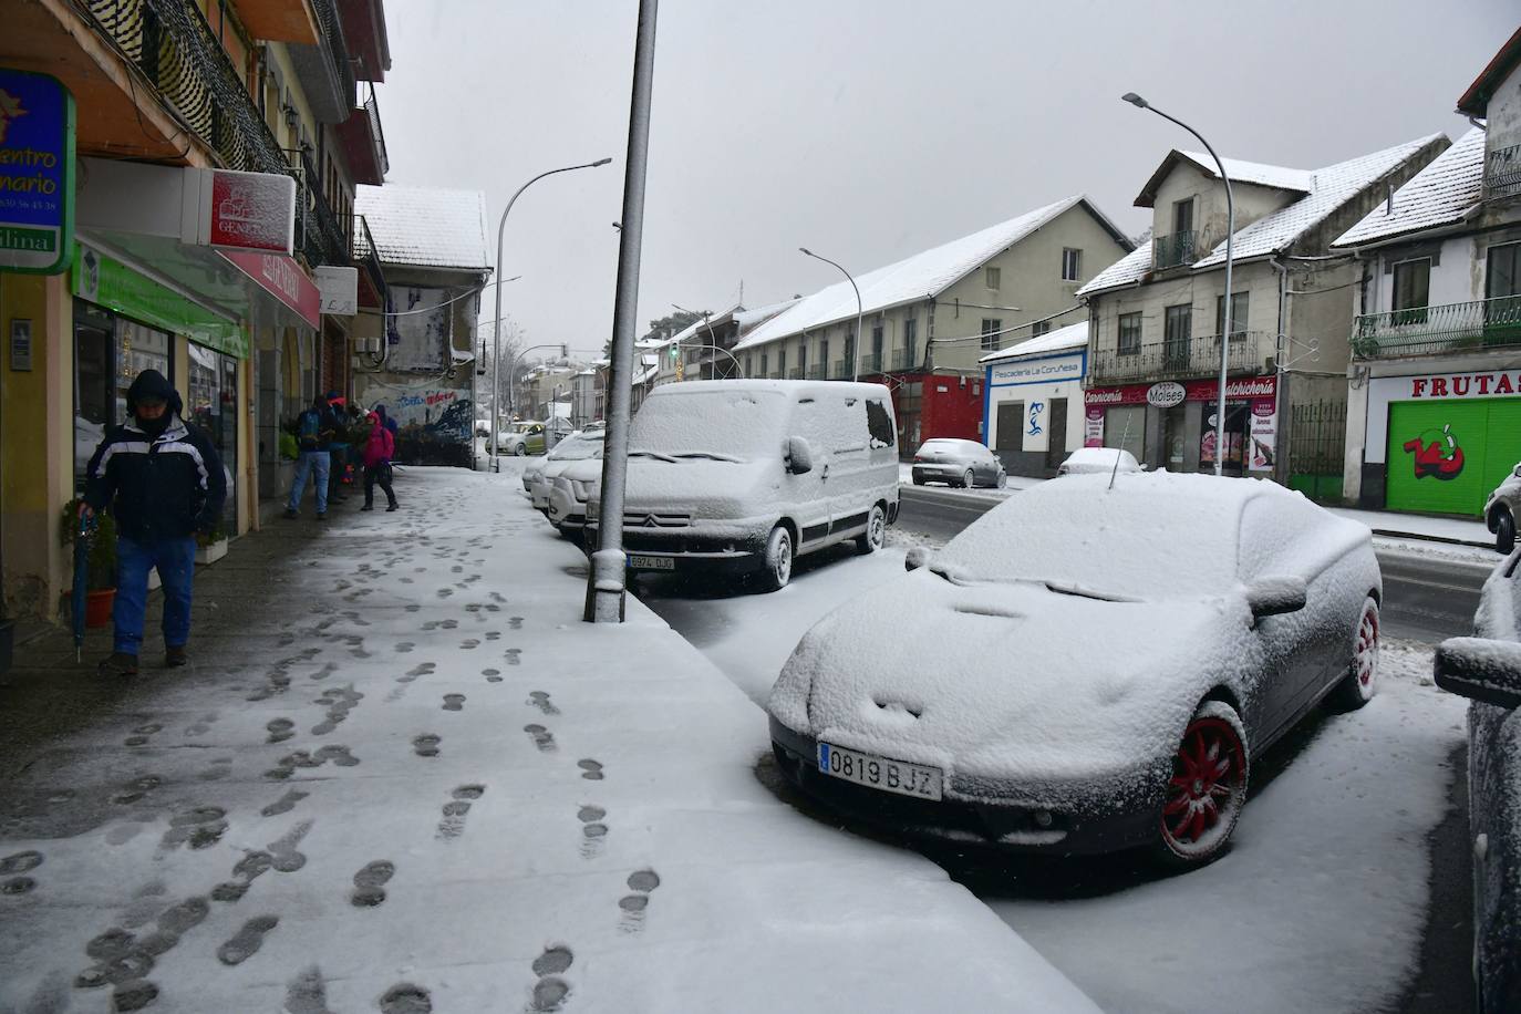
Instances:
[[[75,242],[75,97],[0,67],[0,268],[56,275]]]

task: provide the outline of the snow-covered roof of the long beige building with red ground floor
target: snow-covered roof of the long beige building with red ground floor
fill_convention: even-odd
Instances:
[[[856,277],[861,289],[861,312],[875,313],[916,299],[928,299],[964,278],[980,265],[1025,239],[1063,211],[1084,204],[1119,240],[1124,233],[1115,228],[1083,195],[1075,195],[1048,204],[1019,217],[999,222],[980,233],[963,236],[905,260],[878,268]],[[753,348],[765,342],[797,334],[838,321],[855,319],[856,298],[849,281],[837,281],[811,296],[803,296],[786,310],[756,327],[735,345],[735,350]]]

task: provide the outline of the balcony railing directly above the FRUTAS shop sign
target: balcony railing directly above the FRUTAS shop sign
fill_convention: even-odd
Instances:
[[[1392,359],[1521,345],[1521,296],[1364,313],[1352,324],[1354,359]]]

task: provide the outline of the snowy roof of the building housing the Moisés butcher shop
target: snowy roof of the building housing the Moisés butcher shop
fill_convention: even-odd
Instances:
[[[1354,199],[1373,181],[1392,172],[1418,151],[1439,140],[1446,140],[1442,134],[1431,134],[1404,144],[1395,144],[1367,155],[1358,155],[1343,163],[1335,163],[1310,173],[1314,189],[1299,201],[1267,214],[1250,225],[1237,230],[1234,258],[1237,261],[1253,257],[1269,257],[1291,246],[1300,236],[1325,222]],[[1229,161],[1226,163],[1230,164]],[[1227,169],[1229,172],[1229,169]],[[1224,240],[1206,257],[1194,261],[1194,271],[1208,271],[1224,265]],[[1092,281],[1077,290],[1086,296],[1107,289],[1118,289],[1144,280],[1151,272],[1151,243],[1144,243],[1133,254],[1122,257],[1098,274]]]

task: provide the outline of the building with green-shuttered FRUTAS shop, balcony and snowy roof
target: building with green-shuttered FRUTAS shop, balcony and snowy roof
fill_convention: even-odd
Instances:
[[[1345,488],[1478,515],[1521,462],[1521,32],[1457,105],[1484,120],[1337,246],[1354,251]]]

